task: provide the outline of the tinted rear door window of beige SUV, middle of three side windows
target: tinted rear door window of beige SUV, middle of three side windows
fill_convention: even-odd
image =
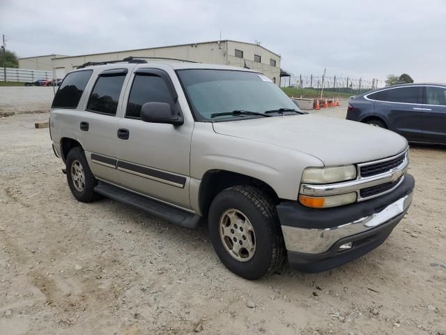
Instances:
[[[86,109],[115,115],[125,75],[98,77]]]

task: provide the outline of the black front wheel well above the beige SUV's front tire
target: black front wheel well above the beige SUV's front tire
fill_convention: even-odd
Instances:
[[[238,185],[250,185],[260,188],[272,198],[275,204],[279,202],[277,193],[271,186],[260,179],[226,170],[210,170],[206,172],[201,179],[199,190],[199,206],[201,214],[203,216],[208,214],[210,203],[215,198],[215,195],[226,188]]]

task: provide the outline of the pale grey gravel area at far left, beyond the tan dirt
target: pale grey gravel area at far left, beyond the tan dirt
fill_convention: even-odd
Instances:
[[[0,87],[0,117],[49,112],[53,98],[53,87]]]

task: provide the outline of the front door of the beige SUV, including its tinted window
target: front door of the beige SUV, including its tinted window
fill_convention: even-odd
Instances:
[[[193,122],[181,126],[140,119],[144,103],[169,103],[180,108],[169,75],[159,69],[135,71],[124,98],[118,132],[118,184],[157,200],[190,209],[190,142]]]

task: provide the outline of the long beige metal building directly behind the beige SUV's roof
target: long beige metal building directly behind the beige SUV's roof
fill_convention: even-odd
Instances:
[[[185,59],[208,64],[247,66],[259,70],[279,85],[280,56],[261,45],[237,42],[235,40],[215,40],[212,42],[151,47],[148,49],[84,54],[73,57],[56,57],[52,60],[54,76],[62,78],[88,61],[115,61],[125,57],[167,57]]]

